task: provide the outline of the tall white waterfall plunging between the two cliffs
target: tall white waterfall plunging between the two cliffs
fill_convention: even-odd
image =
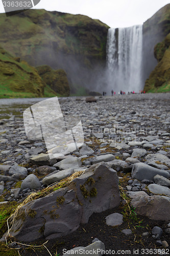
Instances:
[[[139,92],[143,89],[142,25],[109,29],[107,37],[108,90]],[[110,92],[109,92],[110,93]]]

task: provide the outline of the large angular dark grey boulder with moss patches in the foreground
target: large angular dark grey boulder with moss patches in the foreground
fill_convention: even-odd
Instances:
[[[25,242],[61,237],[87,223],[93,212],[116,207],[119,202],[116,171],[103,162],[95,164],[67,187],[22,206],[10,235]]]

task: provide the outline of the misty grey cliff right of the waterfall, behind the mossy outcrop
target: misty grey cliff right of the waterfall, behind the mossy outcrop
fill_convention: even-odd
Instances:
[[[154,56],[154,48],[159,42],[163,41],[164,38],[170,32],[170,4],[161,8],[156,12],[150,19],[143,24],[143,83],[149,78],[151,72],[157,66],[158,59]],[[161,50],[160,50],[161,51]],[[160,55],[159,51],[159,55]],[[165,52],[165,51],[163,51]],[[160,63],[159,63],[160,67]],[[159,67],[157,71],[159,70]],[[163,68],[163,66],[161,65]],[[161,69],[162,69],[161,68]],[[156,72],[156,71],[155,71]],[[158,72],[159,73],[159,72]],[[150,78],[149,78],[150,80]],[[149,80],[146,81],[144,90],[147,91],[149,84],[153,83]]]

